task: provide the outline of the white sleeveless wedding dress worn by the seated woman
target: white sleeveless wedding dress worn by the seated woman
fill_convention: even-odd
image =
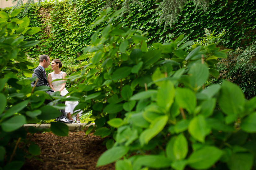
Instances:
[[[62,74],[63,74],[63,73],[64,73],[64,72],[61,72],[60,74],[54,74],[54,72],[51,72],[50,74],[51,74],[51,76],[52,76],[52,81],[54,81],[54,80],[56,80],[56,79],[62,79],[62,78],[63,78],[63,77],[62,77]],[[61,88],[61,86],[62,86],[61,81],[62,81],[62,80],[52,82],[52,86],[53,86],[53,88],[54,88],[56,91]],[[68,94],[68,93],[69,93],[68,90],[67,90],[66,88],[64,88],[64,89],[61,91],[61,96],[65,96],[65,95]],[[67,97],[69,97],[69,96],[67,96]],[[74,112],[79,111],[79,110],[74,111],[74,108],[78,105],[78,101],[65,101],[65,105],[66,105],[66,107],[65,107],[65,112],[66,112],[66,114],[67,114],[67,113],[70,113],[70,114],[72,115]],[[82,116],[82,112],[83,112],[83,111],[80,111],[80,112],[78,113],[79,116]],[[73,119],[73,120],[76,120],[76,115],[72,116],[72,119]]]

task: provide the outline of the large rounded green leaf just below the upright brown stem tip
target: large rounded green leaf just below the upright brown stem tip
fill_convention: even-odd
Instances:
[[[195,63],[190,67],[188,75],[192,87],[197,88],[208,80],[209,70],[205,64]]]

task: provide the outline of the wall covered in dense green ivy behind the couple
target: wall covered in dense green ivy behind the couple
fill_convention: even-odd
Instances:
[[[189,39],[204,36],[204,28],[215,33],[226,31],[223,44],[227,48],[236,49],[256,41],[256,0],[218,0],[210,4],[209,10],[195,11],[192,1],[181,11],[178,21],[173,27],[164,30],[164,23],[156,24],[161,11],[157,11],[160,3],[155,0],[140,0],[143,8],[133,4],[130,13],[120,16],[116,22],[125,22],[132,29],[148,32],[149,43],[166,42],[180,34],[186,33]],[[116,4],[120,8],[122,0]],[[40,27],[43,31],[25,39],[41,40],[40,44],[26,51],[33,57],[48,54],[53,58],[76,58],[82,54],[89,44],[91,35],[99,27],[90,29],[92,21],[104,7],[105,1],[69,0],[61,2],[43,2],[41,6],[30,5],[27,16],[30,26]],[[10,10],[9,8],[4,9]],[[23,17],[23,16],[20,16]]]

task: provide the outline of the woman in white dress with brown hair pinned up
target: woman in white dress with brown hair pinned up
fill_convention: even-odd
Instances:
[[[65,72],[62,72],[60,70],[60,68],[62,67],[61,60],[59,59],[52,60],[51,67],[52,67],[52,70],[54,71],[48,74],[47,79],[48,79],[49,86],[51,87],[52,90],[60,91],[61,95],[65,96],[66,94],[69,93],[65,88],[66,82],[63,82],[62,84],[61,84],[61,81],[64,81],[64,80],[52,82],[53,80],[56,80],[56,79],[65,79],[65,76],[67,76]],[[80,111],[76,116],[71,117],[71,115],[74,112],[79,111],[79,110],[74,111],[74,108],[78,105],[78,101],[66,101],[65,105],[66,105],[65,112],[67,113],[67,118],[72,121],[76,120],[76,123],[80,123],[80,115],[83,111]]]

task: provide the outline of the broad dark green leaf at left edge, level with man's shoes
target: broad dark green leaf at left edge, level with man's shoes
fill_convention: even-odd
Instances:
[[[18,115],[18,116],[13,116],[7,121],[2,122],[1,126],[3,131],[12,132],[19,129],[25,123],[26,123],[26,117],[23,115]]]

